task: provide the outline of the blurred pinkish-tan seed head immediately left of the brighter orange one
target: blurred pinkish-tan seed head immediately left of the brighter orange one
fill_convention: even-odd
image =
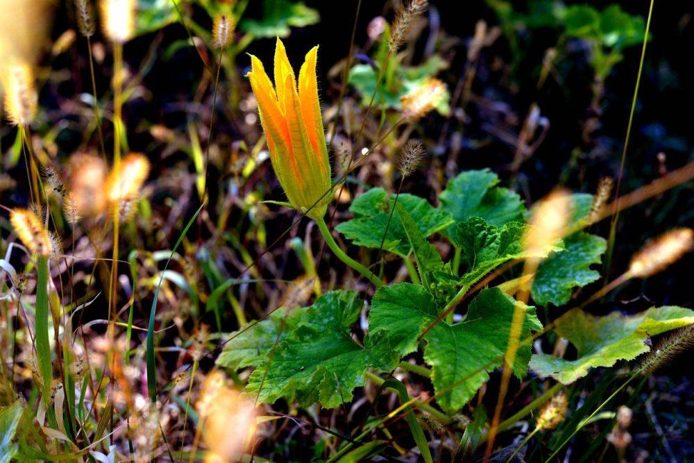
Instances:
[[[65,217],[76,223],[82,217],[92,219],[106,210],[106,174],[104,160],[87,153],[71,155],[67,167]]]

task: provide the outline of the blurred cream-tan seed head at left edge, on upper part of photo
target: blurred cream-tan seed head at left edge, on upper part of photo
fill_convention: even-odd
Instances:
[[[26,62],[3,63],[1,78],[5,92],[5,111],[15,126],[28,126],[36,116],[38,95],[34,74]]]

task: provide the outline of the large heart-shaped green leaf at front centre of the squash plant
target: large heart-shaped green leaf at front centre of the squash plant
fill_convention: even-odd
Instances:
[[[424,359],[433,367],[437,401],[445,410],[459,410],[489,379],[488,372],[502,363],[516,304],[525,310],[521,339],[532,330],[541,330],[534,308],[490,288],[472,301],[464,321],[453,325],[439,321],[424,337]],[[369,312],[369,336],[387,337],[389,344],[405,355],[416,350],[417,337],[439,313],[440,308],[421,286],[400,283],[382,287]],[[525,374],[529,359],[530,345],[521,346],[514,361],[517,376]]]

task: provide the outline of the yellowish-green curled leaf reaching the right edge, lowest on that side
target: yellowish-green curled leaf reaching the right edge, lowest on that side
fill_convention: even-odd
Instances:
[[[694,310],[666,306],[630,317],[619,312],[595,317],[574,309],[555,323],[557,335],[576,347],[576,360],[538,354],[532,356],[530,369],[541,378],[551,376],[570,384],[586,376],[591,368],[611,367],[618,360],[632,360],[650,351],[650,336],[694,323]]]

